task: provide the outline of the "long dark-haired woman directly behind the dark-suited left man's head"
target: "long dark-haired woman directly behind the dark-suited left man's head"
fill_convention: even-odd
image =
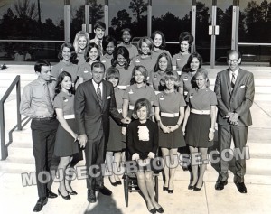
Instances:
[[[99,61],[98,45],[94,42],[88,44],[85,51],[86,62],[81,64],[78,70],[79,84],[92,78],[91,65],[93,62]]]

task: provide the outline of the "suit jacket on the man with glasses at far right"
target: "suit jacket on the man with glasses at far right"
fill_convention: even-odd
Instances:
[[[218,99],[219,125],[229,125],[228,119],[224,118],[229,112],[238,113],[238,126],[252,125],[249,108],[255,94],[253,73],[239,69],[235,87],[231,92],[229,69],[222,70],[217,74],[214,91]]]

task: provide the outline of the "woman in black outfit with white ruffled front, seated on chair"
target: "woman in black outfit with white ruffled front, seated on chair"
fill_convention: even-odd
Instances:
[[[158,148],[158,126],[149,118],[152,115],[151,103],[140,98],[135,103],[133,115],[135,121],[128,126],[127,148],[135,161],[150,161]],[[138,163],[139,164],[139,163]],[[164,209],[154,199],[154,172],[152,167],[148,170],[138,170],[135,174],[140,191],[145,197],[147,209],[151,213],[163,213]]]

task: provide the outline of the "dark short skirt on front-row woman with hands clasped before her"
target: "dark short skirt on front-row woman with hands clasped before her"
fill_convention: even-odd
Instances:
[[[175,126],[179,117],[165,117],[161,116],[161,121],[164,126]],[[162,148],[179,148],[185,146],[184,137],[182,135],[182,126],[171,133],[164,133],[163,130],[159,129],[159,146]]]

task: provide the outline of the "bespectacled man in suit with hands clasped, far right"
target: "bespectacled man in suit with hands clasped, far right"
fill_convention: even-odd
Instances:
[[[221,154],[229,150],[231,138],[236,149],[245,149],[248,139],[248,126],[252,125],[249,108],[253,104],[255,87],[251,72],[239,68],[241,55],[238,51],[228,51],[229,69],[217,74],[214,91],[218,98],[220,175],[215,189],[220,191],[228,183],[229,162]],[[234,182],[241,193],[247,193],[244,182],[246,158],[235,159]]]

